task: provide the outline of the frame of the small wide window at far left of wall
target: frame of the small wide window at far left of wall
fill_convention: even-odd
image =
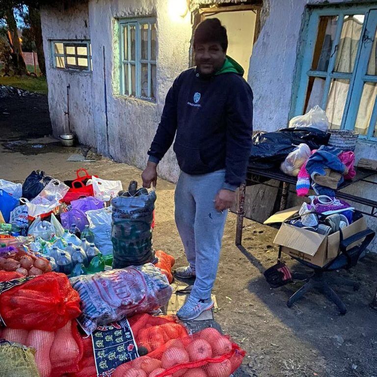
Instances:
[[[57,54],[55,53],[55,44],[56,43],[62,43],[63,44],[63,54]],[[86,55],[80,55],[77,54],[77,47],[86,47]],[[67,47],[75,47],[75,54],[67,54],[66,48]],[[90,44],[90,40],[51,40],[51,54],[52,54],[52,60],[53,60],[53,66],[56,69],[69,69],[69,70],[78,70],[78,71],[92,71],[92,47]],[[64,59],[64,67],[58,67],[56,65],[56,57],[62,57]],[[67,64],[67,57],[80,57],[87,59],[88,65],[87,67],[83,67],[80,65],[73,65],[73,64]]]

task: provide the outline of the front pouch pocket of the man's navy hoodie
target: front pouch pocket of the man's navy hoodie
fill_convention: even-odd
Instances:
[[[204,174],[209,170],[209,166],[200,157],[199,148],[187,147],[175,142],[173,146],[177,156],[178,165],[187,174]]]

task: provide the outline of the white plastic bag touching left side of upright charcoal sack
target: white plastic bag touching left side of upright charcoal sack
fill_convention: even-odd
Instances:
[[[89,229],[94,233],[94,243],[104,255],[112,255],[111,207],[86,212]]]

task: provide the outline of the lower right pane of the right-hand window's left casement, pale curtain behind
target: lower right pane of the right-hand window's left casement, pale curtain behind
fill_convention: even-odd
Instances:
[[[349,87],[349,80],[331,80],[325,111],[332,129],[340,128]]]

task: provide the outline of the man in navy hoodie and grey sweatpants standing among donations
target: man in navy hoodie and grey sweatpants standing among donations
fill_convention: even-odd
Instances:
[[[157,182],[157,164],[174,143],[181,173],[175,190],[175,221],[189,265],[175,270],[196,277],[178,311],[190,321],[214,303],[211,292],[221,239],[235,191],[245,179],[251,149],[253,94],[243,69],[226,55],[228,38],[218,19],[195,29],[195,68],[182,72],[169,89],[161,122],[141,177]]]

